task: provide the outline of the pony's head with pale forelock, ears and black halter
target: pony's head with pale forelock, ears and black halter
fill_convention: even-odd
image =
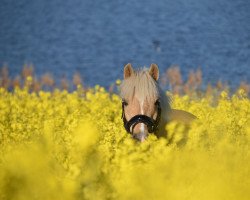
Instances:
[[[158,79],[156,64],[151,64],[149,69],[136,71],[131,64],[124,67],[121,84],[122,118],[127,132],[139,141],[145,140],[149,133],[158,129],[161,119]]]

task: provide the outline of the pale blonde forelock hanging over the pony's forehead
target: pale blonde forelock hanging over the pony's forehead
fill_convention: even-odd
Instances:
[[[158,85],[145,67],[136,70],[121,84],[121,98],[133,99],[134,97],[139,101],[147,99],[150,102],[160,97]]]

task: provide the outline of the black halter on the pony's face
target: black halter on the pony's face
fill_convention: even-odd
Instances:
[[[156,101],[155,103],[155,105],[157,106],[157,116],[155,120],[146,115],[135,115],[129,121],[127,121],[125,117],[125,113],[124,113],[125,105],[126,105],[126,102],[123,101],[122,102],[122,119],[123,119],[124,128],[126,129],[128,133],[133,134],[134,128],[138,123],[143,123],[147,125],[149,133],[157,132],[160,119],[161,119],[161,106],[160,106],[159,101]],[[131,126],[132,126],[132,131],[130,131]]]

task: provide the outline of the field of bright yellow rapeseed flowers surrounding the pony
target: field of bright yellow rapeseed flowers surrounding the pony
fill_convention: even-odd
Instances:
[[[250,100],[211,98],[172,96],[199,120],[138,143],[102,87],[1,88],[0,199],[250,199]]]

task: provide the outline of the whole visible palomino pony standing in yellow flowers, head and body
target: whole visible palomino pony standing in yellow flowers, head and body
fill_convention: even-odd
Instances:
[[[189,112],[171,108],[170,99],[159,87],[156,64],[151,64],[149,69],[134,70],[128,63],[124,66],[123,76],[120,85],[122,119],[124,128],[134,139],[142,142],[149,133],[166,136],[165,126],[170,121],[187,125],[196,119]]]

